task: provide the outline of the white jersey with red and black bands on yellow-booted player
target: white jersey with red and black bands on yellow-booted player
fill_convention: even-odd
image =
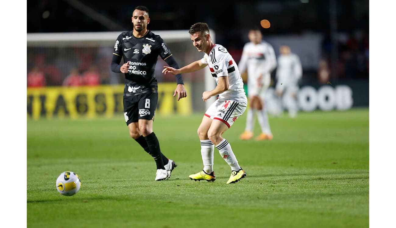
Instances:
[[[217,84],[219,83],[218,77],[228,76],[228,90],[219,94],[219,98],[236,102],[247,100],[238,66],[225,47],[215,44],[209,55],[205,53],[201,61],[209,66],[209,70]]]

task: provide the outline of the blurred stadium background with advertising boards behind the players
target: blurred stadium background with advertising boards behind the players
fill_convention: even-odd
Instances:
[[[244,1],[230,2],[227,5],[213,2],[210,8],[206,5],[186,4],[182,1],[166,3],[29,1],[27,2],[29,118],[61,115],[94,117],[122,113],[122,107],[119,106],[120,91],[122,91],[120,87],[104,86],[102,88],[105,89],[98,89],[99,87],[91,86],[124,83],[123,74],[111,72],[109,69],[112,45],[117,35],[111,41],[98,44],[94,42],[73,44],[67,41],[32,43],[29,42],[29,35],[41,33],[44,36],[48,34],[49,37],[49,34],[54,36],[54,33],[62,33],[63,36],[65,33],[75,32],[118,33],[131,30],[131,14],[139,4],[150,9],[151,21],[148,29],[154,32],[188,30],[190,25],[196,22],[208,23],[214,31],[215,42],[227,47],[236,62],[239,62],[243,45],[248,41],[248,29],[259,26],[261,19],[268,19],[271,27],[261,28],[263,39],[273,45],[276,55],[279,55],[279,46],[286,43],[301,58],[303,79],[300,86],[305,87],[306,91],[303,92],[305,97],[301,98],[301,102],[305,104],[300,104],[300,109],[329,111],[369,105],[368,1]],[[68,36],[73,35],[69,34],[65,37]],[[181,66],[201,57],[188,41],[187,33],[185,36],[187,40],[184,41],[173,42],[164,39]],[[203,71],[183,75],[190,96],[179,104],[179,107],[187,107],[187,110],[182,111],[169,97],[175,80],[173,75],[160,73],[164,64],[166,63],[159,59],[156,66],[158,81],[169,82],[168,85],[163,86],[166,91],[162,91],[163,96],[160,96],[159,104],[162,106],[158,107],[158,114],[190,114],[204,111],[205,106],[200,99],[206,86]],[[62,87],[66,77],[73,70],[80,75],[85,74],[88,77],[93,75],[92,77],[97,77],[98,80],[93,80],[91,85],[81,87],[80,90]],[[30,75],[38,74],[44,75],[45,82],[30,85]],[[275,82],[274,74],[275,71],[272,72],[272,88]],[[47,89],[34,88],[42,85]],[[103,90],[107,92],[97,92]],[[273,90],[268,94],[271,92],[273,93]],[[268,104],[270,105],[270,102]]]

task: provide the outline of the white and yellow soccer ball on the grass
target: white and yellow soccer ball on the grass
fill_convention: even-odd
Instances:
[[[78,175],[71,171],[66,171],[56,179],[56,189],[64,196],[72,196],[80,190],[81,182]]]

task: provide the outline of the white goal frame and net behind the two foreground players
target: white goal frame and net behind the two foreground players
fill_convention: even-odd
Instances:
[[[203,57],[203,53],[199,53],[192,46],[188,30],[153,32],[164,39],[173,53],[173,57],[181,67]],[[46,79],[46,88],[62,88],[65,78],[71,72],[77,71],[82,75],[92,69],[99,73],[101,85],[123,85],[124,74],[114,73],[110,70],[114,43],[120,33],[28,33],[27,72],[28,74],[34,70],[43,72]],[[210,33],[214,41],[215,33],[212,30]],[[167,66],[166,62],[158,58],[155,75],[159,87],[161,87],[161,83],[175,83],[173,75],[162,74],[163,66]],[[212,102],[204,103],[202,92],[215,87],[209,69],[205,68],[198,72],[185,73],[183,74],[183,80],[189,88],[187,94],[191,101],[192,111],[204,111]],[[176,88],[176,83],[174,88]]]

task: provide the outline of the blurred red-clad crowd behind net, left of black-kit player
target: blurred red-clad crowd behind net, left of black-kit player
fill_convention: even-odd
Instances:
[[[54,47],[32,48],[28,50],[28,87],[44,86],[95,86],[118,84],[119,80],[110,76],[111,48],[69,48],[58,50]],[[67,55],[55,52],[63,51]],[[107,52],[109,51],[109,52]]]

